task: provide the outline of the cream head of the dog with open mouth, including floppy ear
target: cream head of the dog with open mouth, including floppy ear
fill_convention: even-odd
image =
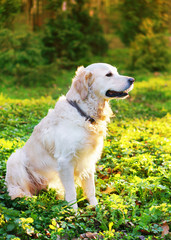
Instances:
[[[134,78],[122,76],[117,69],[106,63],[94,63],[88,67],[79,67],[73,80],[73,87],[85,100],[89,88],[103,99],[126,98],[133,89]]]

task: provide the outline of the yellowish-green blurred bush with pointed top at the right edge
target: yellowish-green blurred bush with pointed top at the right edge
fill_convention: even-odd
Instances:
[[[140,29],[142,33],[131,43],[129,68],[150,72],[168,70],[170,55],[166,36],[154,33],[151,19],[144,19]]]

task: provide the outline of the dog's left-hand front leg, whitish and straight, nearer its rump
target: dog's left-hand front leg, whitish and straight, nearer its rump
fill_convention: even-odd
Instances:
[[[60,164],[61,165],[61,164]],[[62,163],[59,170],[59,177],[65,189],[65,200],[77,209],[76,190],[74,184],[74,167],[70,163]]]

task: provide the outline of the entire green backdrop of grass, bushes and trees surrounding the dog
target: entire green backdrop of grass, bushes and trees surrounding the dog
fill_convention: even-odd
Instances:
[[[0,239],[170,239],[170,60],[169,0],[0,0]],[[52,189],[12,201],[7,159],[94,62],[136,79],[111,101],[98,206],[79,187],[77,215]]]

